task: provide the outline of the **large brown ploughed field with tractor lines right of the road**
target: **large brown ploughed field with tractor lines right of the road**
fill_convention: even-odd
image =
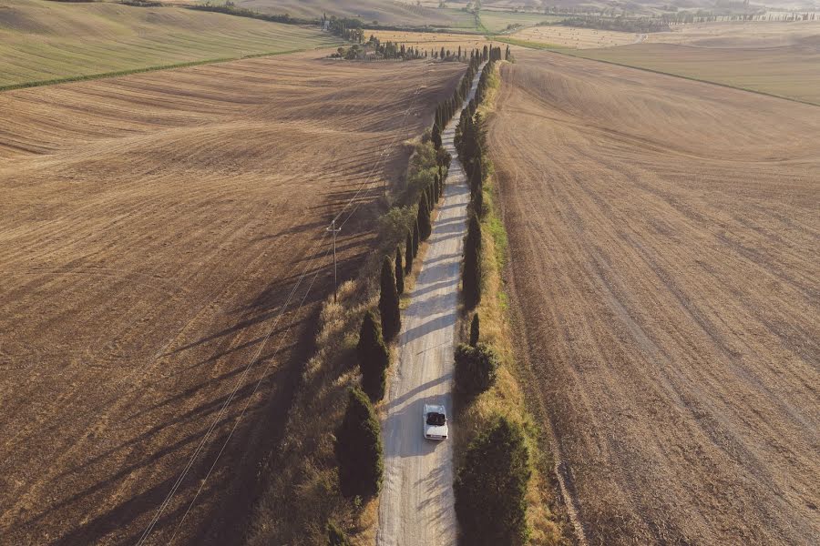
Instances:
[[[816,543],[820,108],[543,52],[502,76],[521,356],[589,543]]]

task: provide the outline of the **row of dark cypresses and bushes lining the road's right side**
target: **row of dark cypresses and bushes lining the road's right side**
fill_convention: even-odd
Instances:
[[[508,56],[508,53],[507,53]],[[485,128],[476,107],[486,96],[488,78],[501,48],[491,47],[487,65],[478,80],[475,101],[464,109],[456,127],[456,149],[470,183],[470,217],[464,249],[463,291],[466,308],[481,299],[481,223],[483,202]],[[456,349],[456,390],[468,399],[479,396],[496,380],[499,359],[496,351],[479,341],[476,313],[470,325],[469,345]],[[529,537],[527,488],[531,475],[530,456],[524,430],[518,421],[505,416],[490,420],[466,448],[456,470],[454,492],[456,515],[461,522],[463,543],[477,546],[508,544],[522,546]]]

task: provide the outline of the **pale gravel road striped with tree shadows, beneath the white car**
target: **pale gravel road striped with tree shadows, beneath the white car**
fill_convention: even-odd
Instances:
[[[479,71],[480,75],[480,71]],[[476,93],[478,76],[470,89]],[[443,146],[453,156],[445,198],[421,272],[402,317],[395,374],[390,380],[384,436],[384,486],[379,505],[380,546],[455,546],[453,441],[422,435],[425,402],[452,413],[453,341],[458,312],[461,249],[470,192],[453,144],[459,113],[446,126]],[[416,266],[419,267],[419,266]],[[450,422],[450,435],[458,423]]]

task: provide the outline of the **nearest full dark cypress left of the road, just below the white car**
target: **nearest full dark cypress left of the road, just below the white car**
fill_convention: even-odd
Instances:
[[[350,389],[342,425],[336,431],[339,485],[345,497],[370,498],[382,487],[384,452],[379,420],[362,389]]]

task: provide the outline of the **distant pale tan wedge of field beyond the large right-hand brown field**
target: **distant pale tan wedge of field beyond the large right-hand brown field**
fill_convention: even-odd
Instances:
[[[820,21],[679,28],[576,55],[820,104]]]

